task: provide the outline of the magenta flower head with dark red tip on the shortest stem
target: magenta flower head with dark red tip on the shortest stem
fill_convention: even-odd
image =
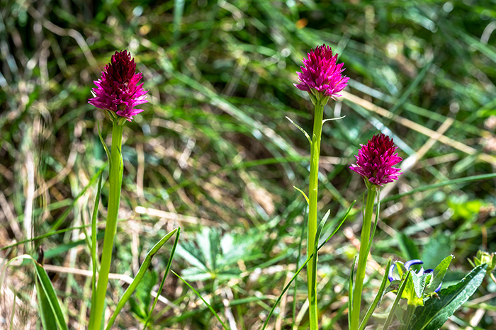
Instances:
[[[393,139],[381,133],[373,136],[367,144],[360,145],[359,155],[355,156],[356,164],[349,167],[352,171],[378,186],[398,180],[401,169],[393,166],[403,159],[395,154],[398,147],[395,147]]]

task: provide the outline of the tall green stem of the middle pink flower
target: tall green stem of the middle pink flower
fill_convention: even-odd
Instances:
[[[310,191],[308,193],[308,247],[307,255],[315,249],[315,234],[317,234],[317,195],[319,185],[320,137],[322,136],[322,118],[324,106],[328,98],[317,98],[313,120],[312,149],[310,151]],[[310,330],[319,328],[317,309],[317,283],[312,283],[313,264],[317,263],[317,254],[308,262],[308,300],[310,312]]]

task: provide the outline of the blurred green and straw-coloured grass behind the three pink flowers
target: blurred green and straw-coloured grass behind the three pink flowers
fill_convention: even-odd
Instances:
[[[495,1],[0,0],[0,12],[1,246],[67,229],[1,254],[36,255],[43,247],[73,329],[85,329],[89,315],[91,279],[81,271],[91,259],[81,226],[91,218],[95,174],[106,161],[98,120],[107,144],[111,132],[87,100],[115,50],[135,57],[149,103],[124,130],[123,221],[111,269],[122,276],[111,280],[111,310],[127,286],[123,275],[133,277],[154,242],[180,225],[172,269],[232,329],[260,329],[305,260],[305,201],[293,186],[307,190],[309,148],[285,116],[312,130],[308,95],[293,83],[301,59],[322,43],[339,53],[351,78],[344,96],[325,108],[325,118],[346,118],[324,126],[322,215],[330,209],[337,217],[358,200],[319,257],[322,329],[347,329],[346,283],[364,190],[348,167],[359,144],[378,132],[400,147],[405,173],[382,191],[389,201],[365,301],[373,300],[388,258],[417,256],[432,267],[453,254],[449,285],[467,273],[466,259],[478,249],[496,250],[493,178],[398,196],[494,170]],[[101,221],[108,183],[102,193]],[[154,258],[119,329],[140,329],[168,256],[164,250]],[[0,317],[13,329],[40,326],[33,278],[29,267],[11,266],[1,281]],[[174,275],[166,283],[152,329],[220,329]],[[466,329],[471,320],[475,329],[495,329],[495,292],[495,283],[483,283],[478,301],[444,329]],[[270,329],[307,329],[304,274],[295,295],[288,293]]]

